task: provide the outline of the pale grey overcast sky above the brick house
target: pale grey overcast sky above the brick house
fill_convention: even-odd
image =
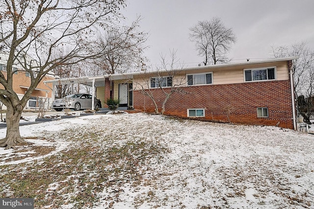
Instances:
[[[271,46],[306,41],[314,50],[314,0],[129,0],[127,21],[141,15],[141,30],[149,32],[145,55],[160,64],[160,53],[177,50],[181,63],[202,62],[189,27],[214,16],[232,27],[237,37],[228,57],[235,62],[272,57]]]

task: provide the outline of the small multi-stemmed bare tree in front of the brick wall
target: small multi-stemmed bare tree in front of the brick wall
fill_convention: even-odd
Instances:
[[[176,58],[176,51],[172,50],[170,52],[170,63],[167,62],[166,56],[161,54],[160,58],[161,67],[154,71],[145,71],[139,82],[135,83],[141,93],[152,100],[156,114],[163,114],[166,111],[165,105],[173,94],[185,94],[186,92],[182,87],[187,84],[185,76],[182,76],[185,75],[183,72],[184,66],[181,65],[179,69],[177,68],[179,60]],[[161,91],[164,95],[161,104],[157,102],[160,99],[156,94],[157,91]],[[161,109],[160,112],[159,109]]]

